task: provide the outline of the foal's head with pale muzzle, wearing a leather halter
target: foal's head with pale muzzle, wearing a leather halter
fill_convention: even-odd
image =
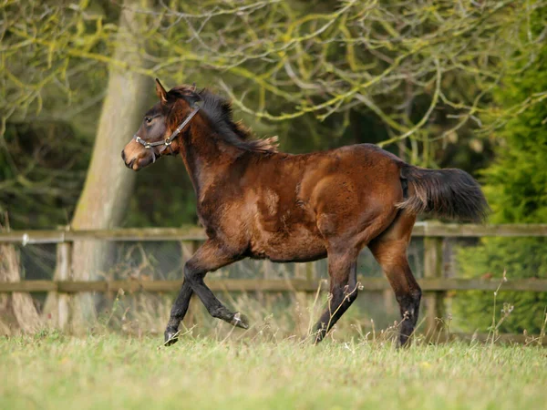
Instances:
[[[164,155],[177,154],[182,135],[173,133],[177,130],[184,133],[189,127],[188,122],[184,124],[185,119],[193,117],[201,102],[195,86],[176,87],[167,92],[158,78],[156,94],[160,102],[146,112],[139,130],[121,151],[126,166],[133,170],[144,168]]]

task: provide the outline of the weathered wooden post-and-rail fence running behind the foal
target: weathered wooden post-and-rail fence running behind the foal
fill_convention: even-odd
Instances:
[[[500,279],[453,279],[443,277],[444,261],[442,245],[447,238],[497,237],[545,237],[547,224],[471,225],[418,222],[412,232],[424,239],[424,277],[418,282],[424,291],[426,323],[435,326],[436,318],[443,313],[444,298],[449,291],[495,291]],[[56,281],[0,282],[0,292],[176,292],[182,281],[69,281],[71,245],[74,241],[181,241],[191,250],[199,241],[206,239],[198,227],[116,229],[101,231],[3,231],[0,243],[40,244],[57,243]],[[384,278],[359,278],[364,291],[383,292],[390,289]],[[213,291],[227,292],[316,292],[326,289],[325,281],[319,281],[309,272],[296,279],[218,279],[208,281]],[[545,279],[517,279],[504,282],[504,291],[547,292]],[[59,298],[59,303],[63,302]],[[64,307],[66,309],[66,306]],[[65,313],[66,314],[66,313]]]

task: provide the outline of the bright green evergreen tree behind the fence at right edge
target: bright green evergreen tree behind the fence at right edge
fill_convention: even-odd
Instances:
[[[547,42],[541,39],[547,9],[536,11],[530,31],[542,41],[539,53],[521,50],[511,58],[509,75],[494,94],[494,104],[509,120],[498,131],[501,144],[497,159],[483,171],[486,196],[492,208],[492,223],[547,222],[547,104],[541,99],[547,90]],[[543,96],[543,97],[542,97]],[[520,98],[530,98],[530,107],[512,113]],[[484,238],[480,246],[459,251],[464,276],[498,277],[504,271],[510,279],[547,278],[545,238]],[[501,324],[501,332],[539,333],[547,308],[544,292],[501,292],[497,296],[497,317],[504,302],[514,310]],[[491,323],[491,292],[461,293],[454,310],[462,328],[485,330]]]

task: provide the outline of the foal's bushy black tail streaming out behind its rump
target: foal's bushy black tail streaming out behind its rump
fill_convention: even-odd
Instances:
[[[490,210],[479,183],[461,169],[424,169],[405,164],[401,179],[407,180],[408,198],[397,207],[412,213],[480,222]]]

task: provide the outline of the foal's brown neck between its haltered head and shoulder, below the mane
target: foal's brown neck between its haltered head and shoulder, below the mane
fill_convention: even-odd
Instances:
[[[243,155],[244,150],[222,139],[219,131],[199,115],[192,119],[189,134],[182,138],[180,152],[200,202],[207,188],[227,175],[232,163]]]

